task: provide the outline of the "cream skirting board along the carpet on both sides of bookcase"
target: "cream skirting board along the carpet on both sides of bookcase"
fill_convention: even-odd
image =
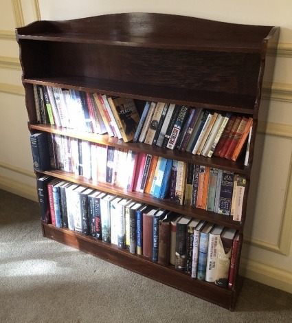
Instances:
[[[36,188],[23,183],[12,181],[8,177],[0,176],[0,188],[26,199],[37,201]],[[240,275],[261,282],[262,284],[292,293],[292,273],[280,268],[242,258],[240,261]]]

